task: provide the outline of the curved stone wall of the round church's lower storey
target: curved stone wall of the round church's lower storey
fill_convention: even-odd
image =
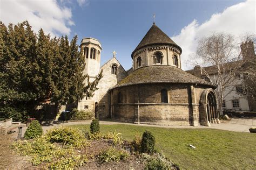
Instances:
[[[159,83],[115,88],[112,90],[112,117],[130,123],[198,126],[200,97],[207,87],[194,86]],[[162,89],[167,90],[168,103],[161,103]],[[202,111],[206,115],[205,110]]]

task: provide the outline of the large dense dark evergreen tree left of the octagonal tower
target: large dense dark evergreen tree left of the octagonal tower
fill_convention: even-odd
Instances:
[[[45,102],[58,109],[93,96],[102,72],[92,82],[84,75],[77,36],[69,42],[68,36],[51,38],[43,29],[36,35],[27,21],[0,26],[0,112],[33,113]]]

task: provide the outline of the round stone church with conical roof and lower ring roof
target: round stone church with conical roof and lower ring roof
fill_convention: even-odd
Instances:
[[[157,125],[219,123],[217,86],[182,70],[181,53],[153,24],[131,54],[133,71],[109,89],[109,116]]]

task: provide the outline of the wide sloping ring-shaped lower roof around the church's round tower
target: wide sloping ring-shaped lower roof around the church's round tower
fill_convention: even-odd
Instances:
[[[214,89],[217,88],[216,84],[202,80],[180,68],[166,65],[138,68],[113,88],[144,83],[197,83],[205,84]]]

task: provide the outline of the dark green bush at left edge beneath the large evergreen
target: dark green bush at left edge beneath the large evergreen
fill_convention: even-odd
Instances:
[[[12,118],[14,122],[25,122],[28,118],[28,112],[22,109],[4,107],[0,108],[0,116],[6,119]]]

